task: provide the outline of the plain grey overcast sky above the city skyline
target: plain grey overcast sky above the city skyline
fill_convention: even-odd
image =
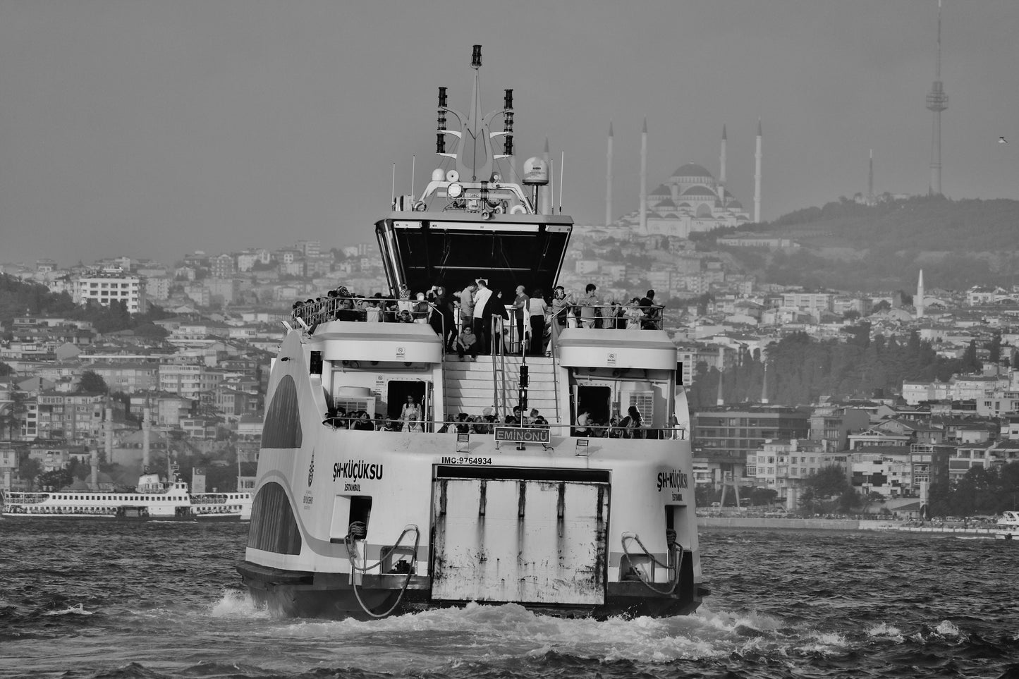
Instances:
[[[343,2],[0,0],[0,262],[168,263],[194,250],[374,241],[436,165],[436,88],[486,110],[514,88],[517,154],[566,153],[564,212],[614,216],[685,162],[762,216],[926,193],[936,0]],[[943,189],[1019,198],[1019,2],[943,10]],[[1000,136],[1011,139],[999,144]],[[556,169],[556,180],[558,179]],[[557,192],[556,192],[557,193]]]

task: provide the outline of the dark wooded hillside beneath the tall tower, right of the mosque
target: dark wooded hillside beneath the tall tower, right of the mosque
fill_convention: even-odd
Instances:
[[[726,249],[762,282],[842,290],[911,290],[1019,282],[1019,201],[918,196],[875,206],[843,200],[740,230],[792,239],[795,253]]]

